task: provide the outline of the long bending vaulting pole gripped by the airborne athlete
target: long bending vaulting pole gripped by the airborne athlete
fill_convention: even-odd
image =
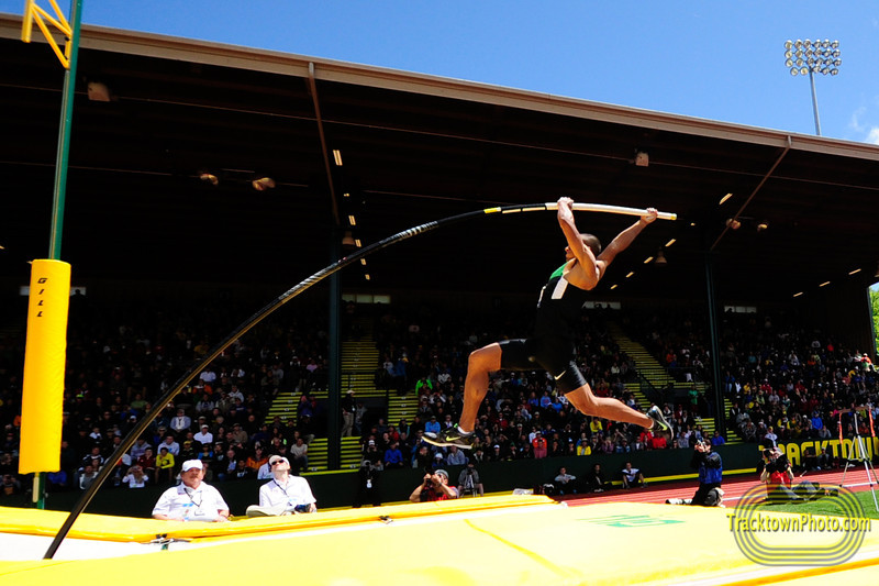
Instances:
[[[579,206],[579,208],[578,208]],[[587,208],[588,207],[588,208]],[[594,209],[600,208],[600,209]],[[398,232],[392,236],[388,236],[385,240],[379,242],[375,242],[369,246],[366,246],[351,256],[345,256],[340,258],[335,263],[331,264],[322,268],[321,270],[314,273],[312,276],[307,278],[305,280],[299,283],[298,285],[293,286],[292,288],[288,289],[287,291],[282,292],[278,297],[276,297],[266,307],[254,313],[247,320],[244,321],[241,325],[238,325],[231,334],[229,334],[222,342],[220,342],[213,350],[202,360],[194,363],[189,369],[178,379],[177,384],[167,390],[165,395],[159,397],[153,403],[153,410],[146,413],[137,424],[129,432],[129,434],[122,440],[122,442],[116,446],[113,453],[107,458],[107,465],[104,465],[98,475],[92,480],[91,485],[82,493],[82,496],[76,502],[74,508],[70,510],[70,515],[67,516],[67,519],[62,524],[58,533],[55,535],[55,539],[46,550],[45,555],[43,556],[44,560],[51,560],[55,553],[58,551],[62,541],[64,538],[67,537],[67,533],[70,531],[70,528],[74,526],[77,517],[88,507],[91,499],[94,498],[94,494],[98,489],[103,485],[104,480],[110,476],[113,468],[115,467],[115,463],[122,460],[122,456],[127,452],[134,442],[137,441],[137,438],[146,431],[146,428],[152,423],[162,411],[180,391],[196,377],[199,371],[202,369],[204,365],[211,364],[220,354],[222,354],[229,346],[232,345],[235,340],[251,331],[256,324],[262,322],[268,316],[275,312],[275,310],[279,309],[281,306],[286,305],[292,298],[299,296],[300,294],[304,292],[307,289],[311,288],[313,285],[322,281],[330,275],[336,273],[348,266],[352,263],[359,261],[360,258],[372,254],[374,252],[380,251],[382,248],[387,248],[392,244],[397,244],[398,242],[402,242],[404,240],[411,239],[412,236],[416,236],[420,234],[424,234],[430,232],[436,228],[442,225],[448,225],[453,223],[457,223],[464,220],[470,220],[472,218],[477,218],[479,215],[489,215],[489,214],[505,214],[505,213],[516,213],[516,212],[527,212],[527,211],[550,211],[557,210],[558,206],[555,202],[552,203],[532,203],[526,206],[504,206],[499,208],[486,208],[482,210],[470,211],[466,213],[460,213],[458,215],[450,215],[448,218],[444,218],[442,220],[435,220],[433,222],[427,222],[425,224],[418,225],[415,228],[410,228],[409,230],[404,230],[402,232]],[[643,214],[647,213],[646,210],[635,211],[635,208],[619,208],[616,206],[599,206],[593,203],[575,203],[575,210],[582,210],[582,211],[604,211],[609,213],[625,213],[625,214]],[[666,218],[664,219],[674,219],[671,215],[675,214],[665,214]],[[675,218],[677,218],[675,215]]]

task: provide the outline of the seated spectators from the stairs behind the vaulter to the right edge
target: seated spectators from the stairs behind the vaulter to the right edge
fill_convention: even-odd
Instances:
[[[637,409],[634,395],[626,390],[637,384],[632,376],[634,364],[608,335],[608,311],[585,312],[578,332],[578,362],[596,394]],[[480,408],[470,457],[478,463],[689,449],[699,441],[715,446],[726,443],[717,431],[705,432],[701,422],[714,412],[712,394],[700,392],[696,385],[711,383],[703,320],[687,312],[648,317],[620,312],[613,319],[632,331],[678,380],[679,391],[660,395],[658,401],[675,429],[670,444],[637,425],[580,414],[556,394],[553,380],[543,372],[501,372],[492,376]],[[457,421],[469,352],[486,341],[527,332],[527,324],[523,328],[485,318],[459,323],[468,328],[456,329],[423,311],[382,318],[382,364],[377,380],[400,394],[414,392],[419,407],[412,421],[394,425],[382,420],[365,430],[365,455],[377,465],[382,465],[390,443],[394,443],[394,462],[402,452],[413,467],[448,464],[454,456],[450,451],[426,444],[421,434]],[[876,371],[868,355],[843,347],[826,334],[805,332],[800,323],[798,316],[780,316],[774,321],[767,314],[724,313],[720,362],[724,403],[731,406],[724,412],[727,430],[746,442],[759,443],[836,438],[838,412],[869,405],[872,412],[859,410],[858,420],[860,434],[869,434],[870,416],[879,417],[879,407]],[[850,436],[853,416],[842,414],[842,422],[843,433]]]

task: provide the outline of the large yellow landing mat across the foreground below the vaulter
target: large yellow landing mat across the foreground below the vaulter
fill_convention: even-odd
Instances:
[[[739,550],[731,529],[734,512],[625,502],[565,507],[543,497],[401,505],[299,516],[292,522],[265,518],[203,527],[200,530],[220,529],[224,534],[205,534],[182,549],[135,559],[3,562],[0,579],[14,578],[18,586],[124,576],[126,586],[155,586],[156,568],[166,578],[197,575],[208,584],[289,579],[332,586],[803,585],[831,579],[872,584],[879,575],[876,521],[868,523],[863,543],[847,561],[833,566],[767,566]],[[766,515],[781,520],[797,517]],[[154,522],[144,521],[155,535]],[[225,534],[235,526],[240,533]],[[838,541],[814,531],[789,535],[776,531],[764,539],[776,540],[779,546]],[[131,572],[132,567],[154,570]]]

